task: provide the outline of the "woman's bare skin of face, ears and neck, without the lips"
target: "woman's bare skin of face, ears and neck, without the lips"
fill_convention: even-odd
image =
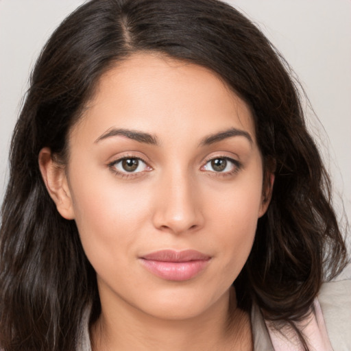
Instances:
[[[150,134],[157,145],[108,136],[114,128]],[[243,135],[204,143],[233,128]],[[128,173],[123,157],[143,161]],[[227,166],[218,171],[211,160]],[[97,272],[96,350],[252,349],[250,320],[231,286],[269,191],[250,109],[215,73],[134,54],[99,80],[71,130],[66,167],[47,148],[39,162]],[[140,260],[164,249],[197,250],[210,261],[189,280],[165,280]]]

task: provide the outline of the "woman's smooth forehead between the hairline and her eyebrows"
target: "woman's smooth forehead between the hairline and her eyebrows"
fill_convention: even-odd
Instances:
[[[209,134],[247,130],[255,139],[250,108],[204,66],[137,53],[101,76],[82,124],[96,134],[132,128],[150,134]]]

